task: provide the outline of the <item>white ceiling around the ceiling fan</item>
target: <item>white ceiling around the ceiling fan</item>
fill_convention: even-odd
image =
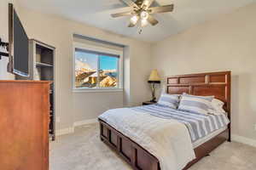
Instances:
[[[160,23],[157,26],[147,26],[143,28],[142,34],[138,34],[137,27],[127,27],[129,17],[111,18],[110,14],[124,12],[124,9],[118,9],[125,7],[119,0],[19,1],[25,8],[46,14],[57,14],[69,20],[77,20],[90,26],[148,42],[159,41],[205,20],[211,20],[218,14],[230,13],[236,8],[253,2],[256,0],[156,0],[155,6],[174,3],[174,11],[154,14]]]

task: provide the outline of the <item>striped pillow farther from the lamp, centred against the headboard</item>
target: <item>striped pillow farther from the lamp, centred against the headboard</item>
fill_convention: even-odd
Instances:
[[[214,96],[183,94],[178,105],[178,110],[207,115],[208,110],[211,108],[212,99],[214,99]]]

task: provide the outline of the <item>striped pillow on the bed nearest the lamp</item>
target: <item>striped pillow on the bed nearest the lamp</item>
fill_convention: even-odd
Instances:
[[[179,97],[179,94],[161,94],[157,104],[177,109]]]

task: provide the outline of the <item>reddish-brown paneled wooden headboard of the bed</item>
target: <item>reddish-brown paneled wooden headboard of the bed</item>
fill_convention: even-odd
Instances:
[[[225,103],[224,109],[230,118],[230,76],[231,71],[222,71],[167,77],[167,93],[214,95]]]

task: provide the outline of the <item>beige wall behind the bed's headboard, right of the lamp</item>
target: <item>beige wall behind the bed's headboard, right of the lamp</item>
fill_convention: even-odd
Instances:
[[[256,139],[256,3],[158,42],[162,76],[232,71],[233,134]]]

